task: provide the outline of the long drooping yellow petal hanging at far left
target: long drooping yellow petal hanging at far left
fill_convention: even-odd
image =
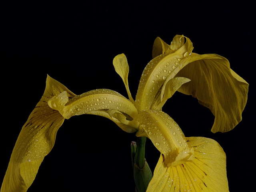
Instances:
[[[12,151],[1,192],[26,192],[34,181],[64,121],[58,111],[48,106],[47,101],[63,91],[66,91],[69,98],[75,96],[64,85],[47,76],[44,94],[22,127]]]

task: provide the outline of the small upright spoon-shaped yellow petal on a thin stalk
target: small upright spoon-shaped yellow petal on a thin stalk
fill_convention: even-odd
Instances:
[[[125,88],[128,93],[128,97],[129,97],[130,101],[132,101],[134,103],[134,100],[132,99],[132,95],[131,95],[129,85],[128,85],[129,65],[128,65],[128,61],[127,61],[127,58],[124,55],[124,53],[116,55],[116,57],[114,57],[113,65],[116,70],[116,73],[118,73],[118,75],[120,75],[120,77],[122,78],[122,80],[124,82],[124,85],[125,85]]]

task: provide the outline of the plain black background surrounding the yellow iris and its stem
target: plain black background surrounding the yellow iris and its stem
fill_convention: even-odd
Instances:
[[[220,143],[227,156],[230,192],[251,191],[255,180],[254,9],[255,2],[242,0],[2,4],[1,182],[20,129],[44,92],[47,74],[76,94],[106,88],[127,97],[112,65],[113,58],[124,53],[135,98],[155,38],[170,44],[176,34],[183,34],[193,42],[194,53],[217,53],[230,61],[231,68],[250,84],[248,102],[242,121],[228,133],[211,133],[214,116],[190,96],[175,93],[163,111],[186,137],[209,137]],[[133,192],[130,142],[134,140],[134,134],[104,117],[65,120],[28,192]],[[158,150],[148,140],[146,159],[152,170],[158,158]]]

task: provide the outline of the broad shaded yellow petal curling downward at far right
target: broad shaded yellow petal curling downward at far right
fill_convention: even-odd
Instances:
[[[248,83],[232,71],[228,60],[220,55],[192,53],[183,66],[177,76],[191,81],[178,91],[196,97],[212,111],[215,116],[213,133],[233,129],[242,120]]]

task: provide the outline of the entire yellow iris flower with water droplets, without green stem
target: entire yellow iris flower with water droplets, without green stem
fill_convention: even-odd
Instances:
[[[152,141],[160,158],[147,192],[227,192],[226,155],[221,146],[212,139],[185,137],[162,107],[175,91],[192,95],[214,114],[212,132],[230,131],[242,119],[248,83],[230,69],[226,58],[198,55],[192,49],[184,36],[175,36],[170,45],[156,38],[153,59],[142,73],[135,100],[124,54],[117,55],[113,64],[129,99],[110,89],[76,95],[47,76],[44,94],[14,146],[1,192],[26,192],[64,119],[82,114],[106,117],[122,130]]]

